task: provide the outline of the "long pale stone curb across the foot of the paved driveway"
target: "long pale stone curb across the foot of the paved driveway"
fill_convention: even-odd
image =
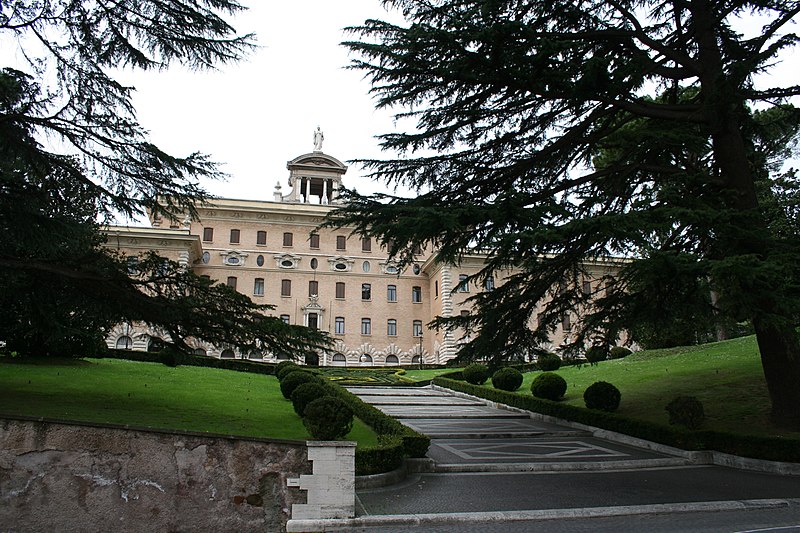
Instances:
[[[666,513],[750,511],[755,509],[778,509],[788,507],[790,501],[795,500],[732,500],[693,503],[664,503],[653,505],[626,505],[619,507],[586,507],[577,509],[539,509],[531,511],[367,515],[360,516],[358,518],[289,520],[289,522],[286,524],[286,531],[310,532],[374,526],[419,526],[463,523],[473,524],[477,522],[523,522]]]

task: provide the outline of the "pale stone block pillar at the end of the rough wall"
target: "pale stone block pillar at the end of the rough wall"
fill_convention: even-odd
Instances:
[[[356,443],[308,441],[313,473],[288,479],[290,487],[308,491],[306,502],[292,504],[287,531],[308,531],[306,520],[353,518],[356,513]]]

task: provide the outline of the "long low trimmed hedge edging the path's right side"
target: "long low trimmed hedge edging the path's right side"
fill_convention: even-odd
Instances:
[[[634,420],[605,411],[595,411],[574,405],[540,400],[533,396],[488,389],[441,376],[434,378],[433,383],[493,402],[624,433],[684,450],[714,450],[767,461],[800,462],[800,439],[738,435],[711,430],[689,431],[675,426]]]

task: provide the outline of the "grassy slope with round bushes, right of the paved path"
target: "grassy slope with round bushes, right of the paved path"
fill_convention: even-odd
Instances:
[[[768,422],[770,402],[754,337],[644,351],[557,373],[567,380],[564,402],[570,405],[583,407],[586,387],[608,381],[622,392],[618,412],[625,416],[666,424],[664,406],[675,396],[692,395],[703,402],[707,429],[800,436],[775,430]],[[530,394],[530,383],[538,374],[525,374],[518,393]]]

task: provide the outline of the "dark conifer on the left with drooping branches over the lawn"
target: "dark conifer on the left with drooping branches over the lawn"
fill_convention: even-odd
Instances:
[[[327,337],[266,316],[270,306],[153,255],[128,272],[102,224],[146,211],[195,214],[218,178],[199,153],[149,142],[116,68],[190,68],[240,59],[253,44],[230,0],[0,0],[0,341],[31,355],[80,356],[141,321],[188,349],[198,338],[303,357]]]

